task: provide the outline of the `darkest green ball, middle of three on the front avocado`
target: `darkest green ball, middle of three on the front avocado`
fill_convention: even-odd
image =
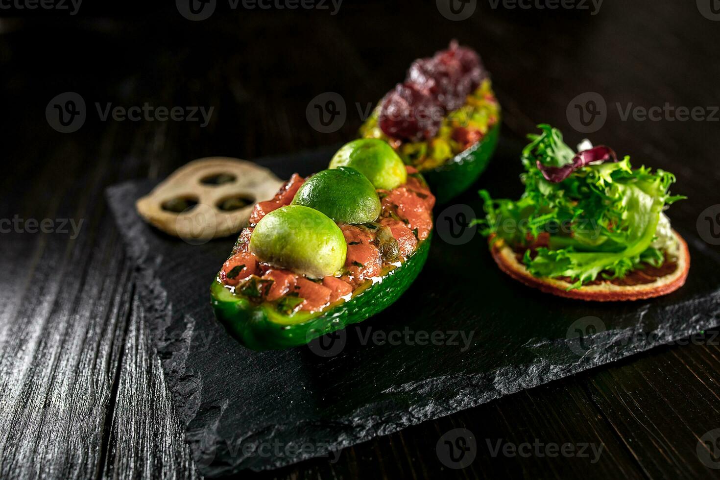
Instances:
[[[339,223],[374,222],[381,210],[375,187],[348,167],[315,173],[302,184],[292,204],[320,210]]]

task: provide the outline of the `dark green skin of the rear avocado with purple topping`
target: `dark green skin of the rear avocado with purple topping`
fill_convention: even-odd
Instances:
[[[495,153],[499,136],[500,119],[480,142],[437,168],[421,171],[435,195],[437,204],[447,203],[474,184],[487,168],[492,153]]]

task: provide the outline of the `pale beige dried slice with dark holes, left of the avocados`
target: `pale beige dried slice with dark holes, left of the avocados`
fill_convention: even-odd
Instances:
[[[135,202],[140,217],[188,243],[240,231],[257,201],[271,199],[282,181],[246,160],[210,157],[178,168]]]

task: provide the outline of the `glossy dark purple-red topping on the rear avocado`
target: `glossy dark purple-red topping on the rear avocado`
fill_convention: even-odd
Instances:
[[[385,135],[403,140],[433,137],[445,114],[462,107],[483,78],[477,53],[451,42],[447,50],[410,65],[405,82],[382,100],[379,127]]]

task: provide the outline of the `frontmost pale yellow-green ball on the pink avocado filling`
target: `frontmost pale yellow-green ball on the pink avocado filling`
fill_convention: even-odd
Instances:
[[[317,279],[343,268],[347,250],[333,220],[301,205],[266,214],[250,236],[250,251],[260,261]]]

